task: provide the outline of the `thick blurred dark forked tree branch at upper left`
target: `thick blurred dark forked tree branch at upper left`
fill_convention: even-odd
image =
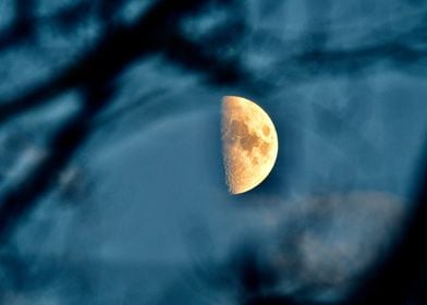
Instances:
[[[223,1],[224,4],[227,2]],[[38,197],[49,190],[52,179],[89,136],[91,120],[111,101],[112,81],[136,59],[164,52],[167,58],[185,69],[207,73],[217,84],[237,82],[244,77],[234,63],[217,58],[180,35],[180,21],[205,4],[195,0],[158,1],[135,25],[111,28],[78,63],[71,64],[52,80],[19,98],[0,101],[1,124],[68,89],[78,88],[85,95],[80,112],[51,139],[50,155],[19,187],[1,197],[1,237],[8,236],[17,221],[34,208]]]

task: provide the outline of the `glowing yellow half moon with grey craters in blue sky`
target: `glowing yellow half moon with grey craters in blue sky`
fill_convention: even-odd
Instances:
[[[231,194],[260,184],[274,166],[279,142],[270,117],[255,102],[225,96],[221,107],[225,180]]]

